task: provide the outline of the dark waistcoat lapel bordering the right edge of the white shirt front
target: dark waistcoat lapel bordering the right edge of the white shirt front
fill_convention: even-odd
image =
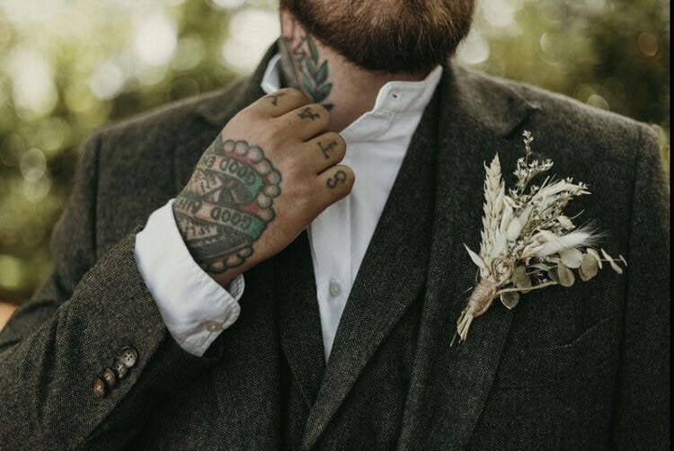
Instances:
[[[305,449],[315,445],[368,360],[421,295],[429,258],[438,100],[436,93],[412,137],[360,265],[306,422]]]

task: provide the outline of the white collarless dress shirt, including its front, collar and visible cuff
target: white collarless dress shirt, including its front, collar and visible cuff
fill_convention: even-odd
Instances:
[[[263,76],[265,93],[280,88],[279,59],[270,60]],[[326,208],[308,230],[326,360],[412,133],[441,75],[438,66],[420,82],[385,84],[373,110],[341,131],[347,144],[342,164],[353,169],[356,182],[350,195]],[[244,278],[226,290],[200,269],[182,241],[172,202],[157,209],[137,234],[136,259],[173,338],[182,349],[202,356],[238,318]]]

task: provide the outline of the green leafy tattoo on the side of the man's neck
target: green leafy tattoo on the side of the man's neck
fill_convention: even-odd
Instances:
[[[326,102],[333,90],[328,81],[328,62],[321,60],[314,38],[296,20],[281,36],[279,49],[286,84],[301,89],[328,110],[333,108],[332,103]]]

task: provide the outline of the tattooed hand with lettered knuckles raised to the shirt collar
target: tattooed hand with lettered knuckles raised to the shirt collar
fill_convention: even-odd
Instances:
[[[173,203],[192,257],[220,285],[280,252],[350,193],[330,113],[288,88],[239,112]]]

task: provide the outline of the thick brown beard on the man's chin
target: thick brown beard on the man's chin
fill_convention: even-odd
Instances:
[[[348,61],[386,73],[442,64],[470,31],[474,0],[280,0],[305,31]]]

